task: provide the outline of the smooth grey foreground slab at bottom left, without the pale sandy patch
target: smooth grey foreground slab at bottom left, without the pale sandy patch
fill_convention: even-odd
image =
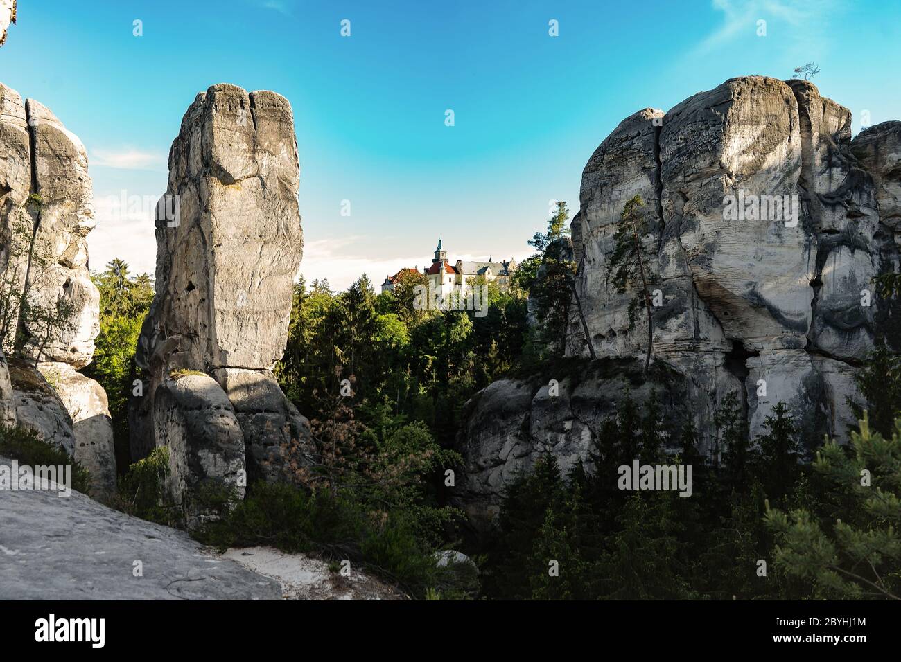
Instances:
[[[10,460],[0,458],[0,464]],[[48,485],[50,486],[50,485]],[[73,492],[0,492],[0,599],[278,600],[278,584]],[[136,576],[140,562],[141,575]]]

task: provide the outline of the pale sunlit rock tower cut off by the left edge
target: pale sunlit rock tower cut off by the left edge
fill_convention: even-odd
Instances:
[[[106,395],[76,371],[100,329],[86,150],[50,110],[0,84],[0,153],[0,335],[18,354],[7,356],[16,418],[72,452],[103,498],[115,486]]]

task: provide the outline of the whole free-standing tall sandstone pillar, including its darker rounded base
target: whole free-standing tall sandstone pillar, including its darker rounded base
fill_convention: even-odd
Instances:
[[[242,494],[244,477],[278,475],[283,446],[309,438],[269,372],[302,255],[299,181],[284,97],[231,85],[196,96],[169,152],[156,296],[135,357],[142,394],[129,416],[133,458],[173,451],[172,491],[187,512],[196,485]]]

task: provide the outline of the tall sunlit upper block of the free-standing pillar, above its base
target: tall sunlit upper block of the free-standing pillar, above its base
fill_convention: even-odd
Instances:
[[[287,99],[231,85],[197,95],[169,153],[163,206],[177,196],[178,218],[157,221],[157,298],[139,348],[148,365],[262,369],[281,358],[303,252],[299,182]]]

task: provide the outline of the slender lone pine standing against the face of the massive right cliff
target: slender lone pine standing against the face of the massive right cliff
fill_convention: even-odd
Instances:
[[[626,289],[637,287],[638,291],[629,302],[630,327],[634,326],[635,313],[642,306],[648,313],[648,352],[644,359],[644,372],[651,366],[651,351],[654,342],[654,323],[651,316],[651,292],[648,286],[654,282],[649,268],[651,253],[644,248],[642,236],[647,232],[647,222],[641,209],[644,200],[635,195],[623,206],[620,221],[614,233],[614,251],[610,257],[608,277],[612,277],[614,287],[619,294]]]

